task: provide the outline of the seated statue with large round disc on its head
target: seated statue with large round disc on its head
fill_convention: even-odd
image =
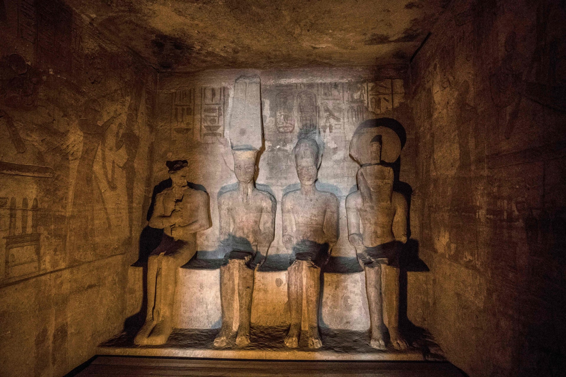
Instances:
[[[381,134],[385,135],[387,141],[397,138],[398,142],[398,137],[390,135],[393,132],[391,129],[383,128],[357,131],[362,135],[354,135],[350,144],[350,154],[361,163],[361,168],[357,173],[358,190],[346,197],[348,236],[366,272],[371,346],[385,349],[381,330],[385,314],[391,343],[396,349],[406,349],[408,345],[398,328],[398,253],[407,241],[408,205],[402,194],[393,192],[392,168],[382,164],[384,143]],[[390,157],[388,162],[395,161],[399,155],[396,153],[395,156],[391,149],[400,152],[400,143],[387,151]],[[381,285],[382,273],[385,275],[385,287]],[[390,305],[384,308],[384,302]]]

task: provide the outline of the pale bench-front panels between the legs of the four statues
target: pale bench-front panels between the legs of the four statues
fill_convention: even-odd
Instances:
[[[363,272],[325,273],[323,284],[320,327],[352,331],[370,328]],[[219,328],[220,270],[179,268],[174,313],[177,328]],[[256,271],[252,326],[285,327],[289,323],[287,271]]]

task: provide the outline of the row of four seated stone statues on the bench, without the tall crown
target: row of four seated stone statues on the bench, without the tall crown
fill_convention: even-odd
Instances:
[[[401,146],[396,133],[379,122],[363,123],[350,144],[360,164],[358,189],[346,198],[348,239],[366,275],[373,348],[385,350],[384,322],[394,348],[408,344],[398,325],[399,256],[407,242],[408,203],[393,191],[393,169]],[[218,194],[221,329],[214,346],[222,348],[235,336],[237,346],[250,343],[250,319],[255,270],[267,258],[275,237],[276,200],[255,187],[258,150],[234,149],[237,186]],[[293,151],[300,188],[282,196],[282,244],[290,255],[288,302],[290,328],[284,340],[298,348],[323,346],[319,334],[320,271],[338,241],[339,201],[315,187],[322,149],[316,137],[301,135]],[[172,330],[171,312],[177,270],[196,252],[196,232],[211,227],[209,198],[188,186],[188,163],[167,163],[171,187],[159,193],[149,226],[164,231],[148,261],[148,309],[135,337],[138,345],[164,344]],[[235,320],[237,318],[237,320]],[[302,343],[302,341],[301,341]]]

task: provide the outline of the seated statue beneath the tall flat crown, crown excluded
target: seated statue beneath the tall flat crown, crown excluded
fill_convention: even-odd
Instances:
[[[233,151],[238,188],[218,197],[220,240],[228,263],[220,267],[222,326],[214,341],[217,347],[226,346],[234,331],[237,331],[238,346],[250,343],[254,270],[267,257],[275,235],[275,198],[255,188],[256,152]],[[234,328],[235,302],[238,302],[237,330]]]

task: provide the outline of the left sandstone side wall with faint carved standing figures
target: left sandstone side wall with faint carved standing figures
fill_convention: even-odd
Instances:
[[[61,2],[2,5],[0,375],[63,375],[123,326],[155,76]]]

